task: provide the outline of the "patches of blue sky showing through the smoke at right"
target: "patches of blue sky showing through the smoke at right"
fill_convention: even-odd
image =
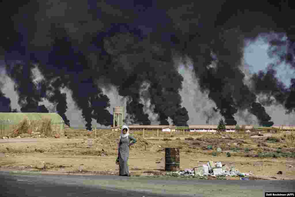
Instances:
[[[252,73],[260,70],[265,70],[268,64],[275,62],[274,58],[269,58],[267,49],[269,45],[262,38],[258,38],[255,42],[249,43],[245,47],[244,58],[245,62],[250,65]],[[291,70],[289,65],[281,64],[278,66],[277,77],[287,86],[290,86],[290,79],[295,76],[294,70]]]

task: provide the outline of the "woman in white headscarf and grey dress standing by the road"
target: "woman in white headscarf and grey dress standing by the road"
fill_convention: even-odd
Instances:
[[[132,142],[130,143],[130,140]],[[129,128],[124,125],[122,126],[120,139],[119,139],[119,147],[118,147],[118,158],[117,162],[119,162],[119,176],[130,176],[129,175],[129,146],[134,144],[136,139],[133,136],[129,136]]]

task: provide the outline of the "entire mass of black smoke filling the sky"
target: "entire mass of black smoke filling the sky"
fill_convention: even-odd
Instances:
[[[288,45],[279,57],[294,68],[295,33],[286,20],[293,14],[288,3],[259,1],[253,6],[246,1],[200,4],[184,0],[167,6],[163,1],[138,5],[134,1],[50,0],[21,5],[7,1],[0,6],[5,7],[1,16],[7,23],[0,41],[5,58],[12,58],[12,52],[17,51],[18,58],[38,62],[45,84],[60,80],[50,91],[51,102],[63,105],[61,114],[67,104],[59,89],[71,90],[88,129],[92,118],[102,124],[112,122],[106,112],[109,99],[101,90],[110,84],[128,98],[127,113],[135,123],[150,124],[140,99],[142,84],[149,83],[150,102],[160,123],[167,124],[170,117],[173,124],[186,125],[189,117],[179,94],[183,77],[172,62],[175,54],[193,60],[201,91],[209,92],[228,125],[236,124],[238,109],[248,109],[261,122],[268,122],[263,106],[255,103],[255,94],[244,84],[239,66],[245,40],[285,32],[285,43],[271,44]],[[282,50],[274,53],[278,55],[278,51]],[[42,110],[37,104],[44,97],[43,88],[35,87],[29,74],[32,66],[25,66],[15,71],[8,66],[17,84],[19,103],[23,110]],[[27,78],[19,76],[19,70]],[[285,107],[294,109],[294,87],[289,89],[290,93],[278,100],[285,100]]]

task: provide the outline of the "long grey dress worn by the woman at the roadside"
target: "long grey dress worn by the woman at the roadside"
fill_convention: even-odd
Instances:
[[[130,140],[133,140],[130,143]],[[129,175],[129,166],[128,166],[128,159],[129,159],[129,143],[130,145],[134,144],[136,139],[133,136],[127,136],[125,138],[120,139],[120,146],[119,146],[119,175]]]

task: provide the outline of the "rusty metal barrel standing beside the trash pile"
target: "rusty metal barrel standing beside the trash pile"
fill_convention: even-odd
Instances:
[[[165,148],[165,171],[179,171],[179,148]]]

